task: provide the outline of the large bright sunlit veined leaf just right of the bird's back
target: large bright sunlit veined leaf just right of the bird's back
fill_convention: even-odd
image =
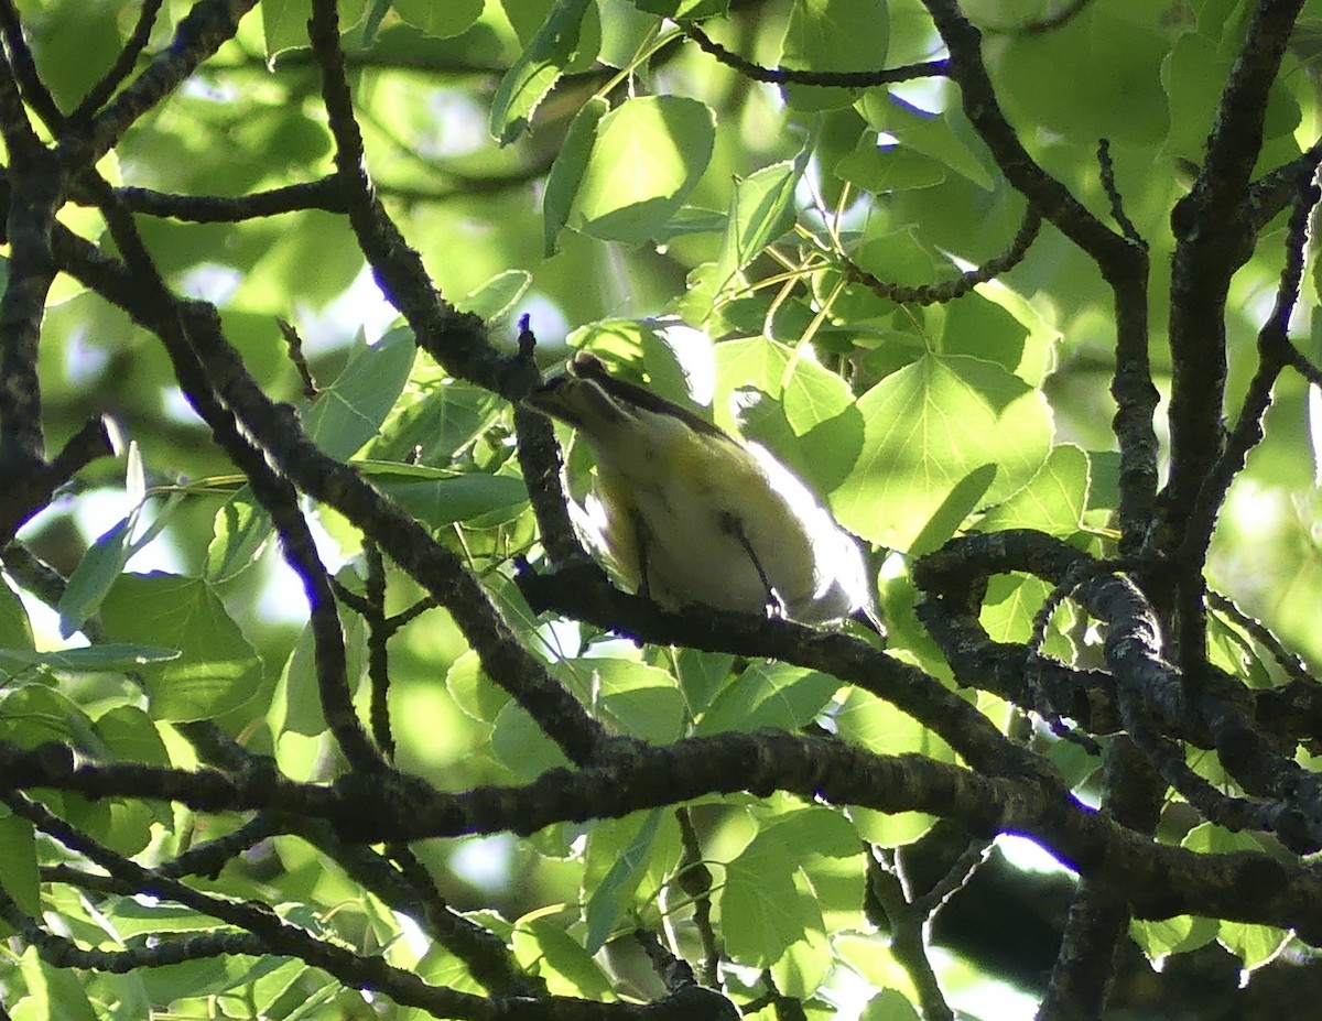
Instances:
[[[1051,414],[1042,393],[998,365],[925,354],[858,401],[863,452],[832,505],[845,528],[907,549],[969,472],[997,466],[1003,499],[1042,467]]]

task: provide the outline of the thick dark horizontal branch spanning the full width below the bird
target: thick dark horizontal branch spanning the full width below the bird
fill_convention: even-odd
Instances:
[[[459,795],[390,774],[349,774],[324,788],[275,775],[235,779],[214,771],[52,762],[49,753],[0,746],[0,787],[163,797],[198,811],[279,808],[325,817],[346,838],[364,842],[527,835],[554,823],[617,819],[738,791],[760,797],[787,791],[882,812],[940,812],[978,833],[1032,837],[1080,874],[1129,891],[1138,918],[1210,915],[1293,927],[1301,938],[1322,942],[1322,878],[1311,868],[1260,853],[1199,854],[1157,844],[1040,780],[988,779],[923,755],[875,755],[834,738],[781,731],[690,738],[636,749],[608,766],[551,770],[525,787]]]

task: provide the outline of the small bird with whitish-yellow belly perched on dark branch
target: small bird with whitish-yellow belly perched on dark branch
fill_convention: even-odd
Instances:
[[[858,544],[764,447],[587,353],[525,405],[587,440],[600,551],[640,595],[808,624],[851,616],[884,635]]]

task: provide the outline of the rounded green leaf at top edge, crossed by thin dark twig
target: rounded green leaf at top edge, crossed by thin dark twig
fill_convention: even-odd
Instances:
[[[806,71],[880,71],[890,17],[884,0],[796,0],[781,42],[780,66]],[[795,110],[839,110],[858,90],[788,85]]]

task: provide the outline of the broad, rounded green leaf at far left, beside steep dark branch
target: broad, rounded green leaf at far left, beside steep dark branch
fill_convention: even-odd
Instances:
[[[169,641],[180,651],[177,659],[141,671],[153,719],[214,718],[243,705],[262,682],[256,652],[198,578],[120,575],[106,596],[102,623],[116,641]]]

